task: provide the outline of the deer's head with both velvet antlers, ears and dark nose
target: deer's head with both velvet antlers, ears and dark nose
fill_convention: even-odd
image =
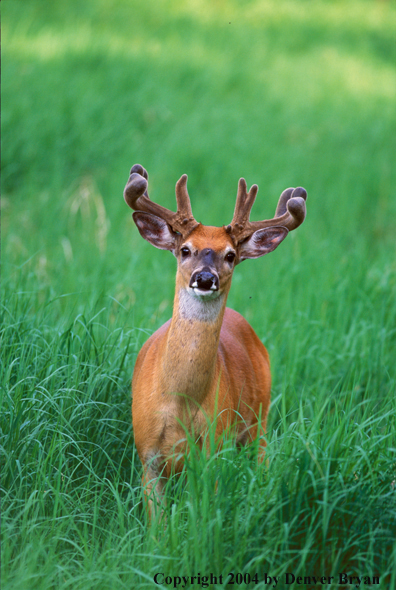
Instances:
[[[275,217],[250,221],[258,186],[247,192],[239,180],[234,216],[223,227],[204,226],[192,214],[187,175],[176,183],[177,211],[151,201],[147,171],[135,164],[124,190],[126,203],[141,236],[156,248],[170,250],[178,261],[178,286],[201,300],[228,293],[237,264],[272,252],[305,218],[307,192],[288,188],[280,196]]]

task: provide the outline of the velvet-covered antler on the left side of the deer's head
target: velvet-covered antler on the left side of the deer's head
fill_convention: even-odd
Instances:
[[[177,212],[174,213],[161,205],[154,203],[147,192],[148,174],[140,164],[131,168],[128,182],[124,189],[124,199],[127,205],[135,211],[145,211],[160,217],[171,228],[185,238],[199,224],[195,221],[191,210],[190,197],[187,192],[187,174],[176,183]]]

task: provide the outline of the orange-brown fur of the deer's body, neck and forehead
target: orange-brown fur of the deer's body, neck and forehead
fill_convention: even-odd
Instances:
[[[183,467],[186,432],[179,421],[197,440],[208,418],[217,419],[216,437],[234,425],[237,441],[246,443],[265,430],[270,405],[267,350],[248,322],[226,308],[234,265],[224,262],[223,253],[232,241],[224,228],[200,225],[180,247],[185,244],[192,255],[184,263],[178,256],[173,316],[143,346],[132,381],[133,430],[146,497],[153,484],[160,494],[171,473]],[[194,248],[202,252],[208,247],[219,253],[215,270],[221,308],[215,321],[199,321],[183,316],[180,297],[199,264]],[[261,460],[264,446],[262,442]]]

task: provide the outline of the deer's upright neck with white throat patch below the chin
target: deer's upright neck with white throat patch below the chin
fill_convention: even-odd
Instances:
[[[202,404],[215,377],[220,330],[227,293],[216,299],[195,297],[176,282],[172,320],[165,340],[163,384],[168,394],[181,394]]]

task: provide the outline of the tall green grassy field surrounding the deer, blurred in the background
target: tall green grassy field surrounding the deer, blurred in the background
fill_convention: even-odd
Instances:
[[[396,587],[395,35],[387,1],[3,0],[3,590]],[[308,191],[229,297],[271,356],[268,465],[195,455],[166,528],[130,378],[175,262],[123,201],[135,162],[211,225],[240,176],[253,219]]]

